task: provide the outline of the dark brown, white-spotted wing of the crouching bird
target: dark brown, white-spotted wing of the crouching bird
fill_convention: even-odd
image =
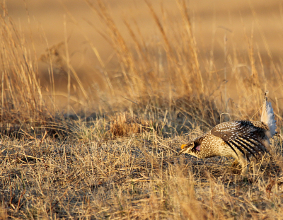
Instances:
[[[211,134],[220,137],[231,149],[236,148],[244,155],[248,152],[253,156],[260,156],[260,152],[266,152],[266,149],[258,140],[258,129],[248,121],[224,122],[216,125]]]

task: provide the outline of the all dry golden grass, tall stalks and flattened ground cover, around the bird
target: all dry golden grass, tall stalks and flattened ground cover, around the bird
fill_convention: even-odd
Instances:
[[[225,89],[222,70],[211,57],[200,59],[185,1],[176,1],[175,25],[146,1],[161,40],[147,41],[125,19],[132,46],[104,1],[87,3],[105,27],[98,31],[113,47],[117,71],[108,71],[82,33],[102,74],[100,83],[83,84],[66,35],[41,56],[50,87],[40,81],[33,45],[2,6],[0,218],[283,219],[282,66],[272,57],[267,66],[247,37],[248,57],[236,47],[225,52],[224,71],[234,82]],[[55,89],[61,76],[65,108]],[[49,93],[42,95],[42,84]],[[231,158],[176,156],[180,144],[219,122],[257,120],[266,89],[279,135],[273,161],[259,161],[259,173],[243,178]]]

